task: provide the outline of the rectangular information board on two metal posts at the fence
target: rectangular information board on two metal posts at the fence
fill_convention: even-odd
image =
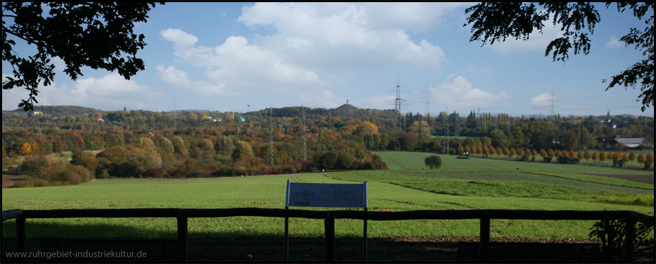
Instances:
[[[365,211],[367,204],[367,182],[363,184],[331,184],[331,183],[305,183],[291,182],[287,180],[287,194],[284,200],[284,209],[290,206],[298,207],[363,207]],[[334,225],[326,225],[333,230],[326,230],[326,234],[334,236]],[[364,220],[364,247],[363,261],[367,262],[367,219]],[[334,237],[326,238],[334,241]],[[330,244],[330,243],[329,243]],[[333,245],[327,245],[327,249],[334,254]],[[327,252],[327,253],[329,253]],[[327,256],[334,261],[334,256]],[[289,261],[289,218],[284,218],[284,261]]]

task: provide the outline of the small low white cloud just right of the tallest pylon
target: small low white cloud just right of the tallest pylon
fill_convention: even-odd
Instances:
[[[495,95],[479,88],[472,88],[472,84],[462,76],[456,76],[450,84],[442,83],[431,87],[430,91],[439,104],[447,106],[474,107],[479,106],[479,103],[480,106],[489,106],[492,102],[510,98],[510,95],[503,91]]]

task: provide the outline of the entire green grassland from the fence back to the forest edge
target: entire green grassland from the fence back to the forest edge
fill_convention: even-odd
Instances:
[[[66,187],[3,189],[2,210],[108,208],[284,208],[287,180],[368,182],[369,210],[632,210],[654,215],[654,185],[585,173],[653,171],[582,164],[543,164],[441,155],[441,169],[425,169],[427,153],[379,152],[387,171],[343,171],[215,179],[99,179]],[[516,168],[520,167],[519,170]],[[293,207],[293,209],[339,209]],[[586,238],[595,221],[492,220],[491,236]],[[478,236],[479,220],[369,221],[369,237]],[[29,219],[28,238],[175,238],[175,218]],[[362,236],[361,220],[336,220],[336,235]],[[190,218],[190,238],[284,234],[283,218]],[[323,220],[291,218],[290,235],[323,236]],[[15,221],[2,223],[15,236]]]

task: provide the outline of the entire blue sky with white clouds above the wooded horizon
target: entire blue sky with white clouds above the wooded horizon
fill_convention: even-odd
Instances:
[[[595,3],[601,21],[588,55],[566,62],[545,57],[559,26],[545,23],[528,41],[481,46],[463,26],[474,3],[166,3],[148,12],[135,33],[147,46],[146,69],[126,80],[116,72],[82,68],[76,81],[55,63],[55,82],[41,86],[39,104],[105,111],[258,111],[269,107],[332,109],[348,100],[363,109],[402,113],[653,117],[642,112],[639,88],[610,79],[642,59],[619,38],[645,24],[632,12]],[[18,42],[21,56],[32,55]],[[11,66],[3,62],[3,79]],[[15,110],[28,92],[2,91],[2,109]]]

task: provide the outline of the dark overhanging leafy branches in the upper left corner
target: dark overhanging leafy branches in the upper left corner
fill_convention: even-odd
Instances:
[[[2,89],[26,88],[28,98],[18,106],[33,112],[39,86],[55,79],[54,57],[64,61],[64,73],[74,80],[83,66],[117,70],[130,79],[144,70],[144,61],[135,56],[146,46],[133,27],[146,22],[151,7],[155,3],[3,2],[2,61],[12,66],[13,75],[3,78]],[[19,56],[17,41],[34,46],[36,54]]]

